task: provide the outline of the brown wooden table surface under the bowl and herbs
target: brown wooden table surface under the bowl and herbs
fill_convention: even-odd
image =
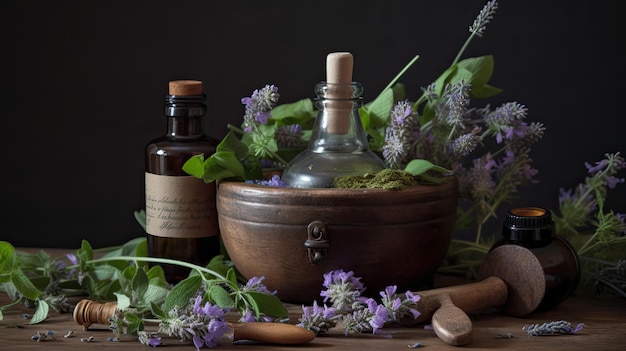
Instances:
[[[0,306],[10,302],[6,294],[0,296]],[[287,305],[290,322],[297,323],[302,313],[300,306]],[[71,313],[57,314],[51,312],[49,318],[37,325],[28,324],[22,313],[31,312],[24,307],[13,308],[4,312],[4,320],[0,321],[0,350],[134,350],[145,348],[137,341],[107,341],[112,333],[106,325],[92,325],[83,330],[72,319]],[[235,318],[235,316],[233,316]],[[421,343],[427,350],[626,350],[626,300],[622,298],[591,298],[573,296],[559,306],[545,312],[534,313],[523,318],[509,317],[498,312],[472,315],[472,341],[468,345],[455,347],[445,344],[433,331],[424,329],[423,325],[414,327],[389,327],[384,330],[393,337],[385,338],[378,335],[359,334],[345,336],[341,328],[335,328],[328,334],[316,337],[304,345],[282,346],[254,343],[223,343],[217,350],[406,350],[409,345]],[[566,320],[576,325],[584,323],[585,327],[574,335],[528,336],[522,327],[536,324]],[[156,326],[148,325],[147,329],[156,330]],[[37,331],[54,331],[55,340],[36,342],[31,337]],[[72,330],[74,336],[64,338],[67,331]],[[508,335],[512,338],[499,338]],[[81,342],[82,338],[93,336],[92,342]],[[181,344],[178,339],[166,339],[166,350],[194,350],[192,344]]]

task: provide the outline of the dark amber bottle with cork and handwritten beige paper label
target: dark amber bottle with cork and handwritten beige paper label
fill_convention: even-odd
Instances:
[[[169,83],[165,96],[165,135],[146,145],[146,232],[148,254],[206,265],[220,252],[215,183],[188,175],[183,164],[192,156],[215,153],[218,140],[204,134],[206,97],[202,82]],[[162,265],[170,283],[189,269]]]

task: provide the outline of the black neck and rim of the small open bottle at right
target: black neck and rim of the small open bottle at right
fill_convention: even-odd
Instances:
[[[509,210],[502,224],[502,236],[519,242],[549,240],[554,236],[552,213],[542,207]]]

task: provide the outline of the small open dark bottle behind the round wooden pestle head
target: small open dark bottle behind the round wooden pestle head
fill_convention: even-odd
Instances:
[[[519,245],[530,250],[543,268],[546,291],[537,311],[547,310],[567,299],[578,286],[580,262],[574,248],[555,233],[552,213],[541,207],[518,207],[506,213],[502,245]]]

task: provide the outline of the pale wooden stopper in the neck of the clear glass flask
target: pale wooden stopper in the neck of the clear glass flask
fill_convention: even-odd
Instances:
[[[326,56],[328,127],[331,134],[346,134],[352,112],[352,69],[354,58],[349,52],[333,52]],[[337,101],[335,101],[337,100]]]

